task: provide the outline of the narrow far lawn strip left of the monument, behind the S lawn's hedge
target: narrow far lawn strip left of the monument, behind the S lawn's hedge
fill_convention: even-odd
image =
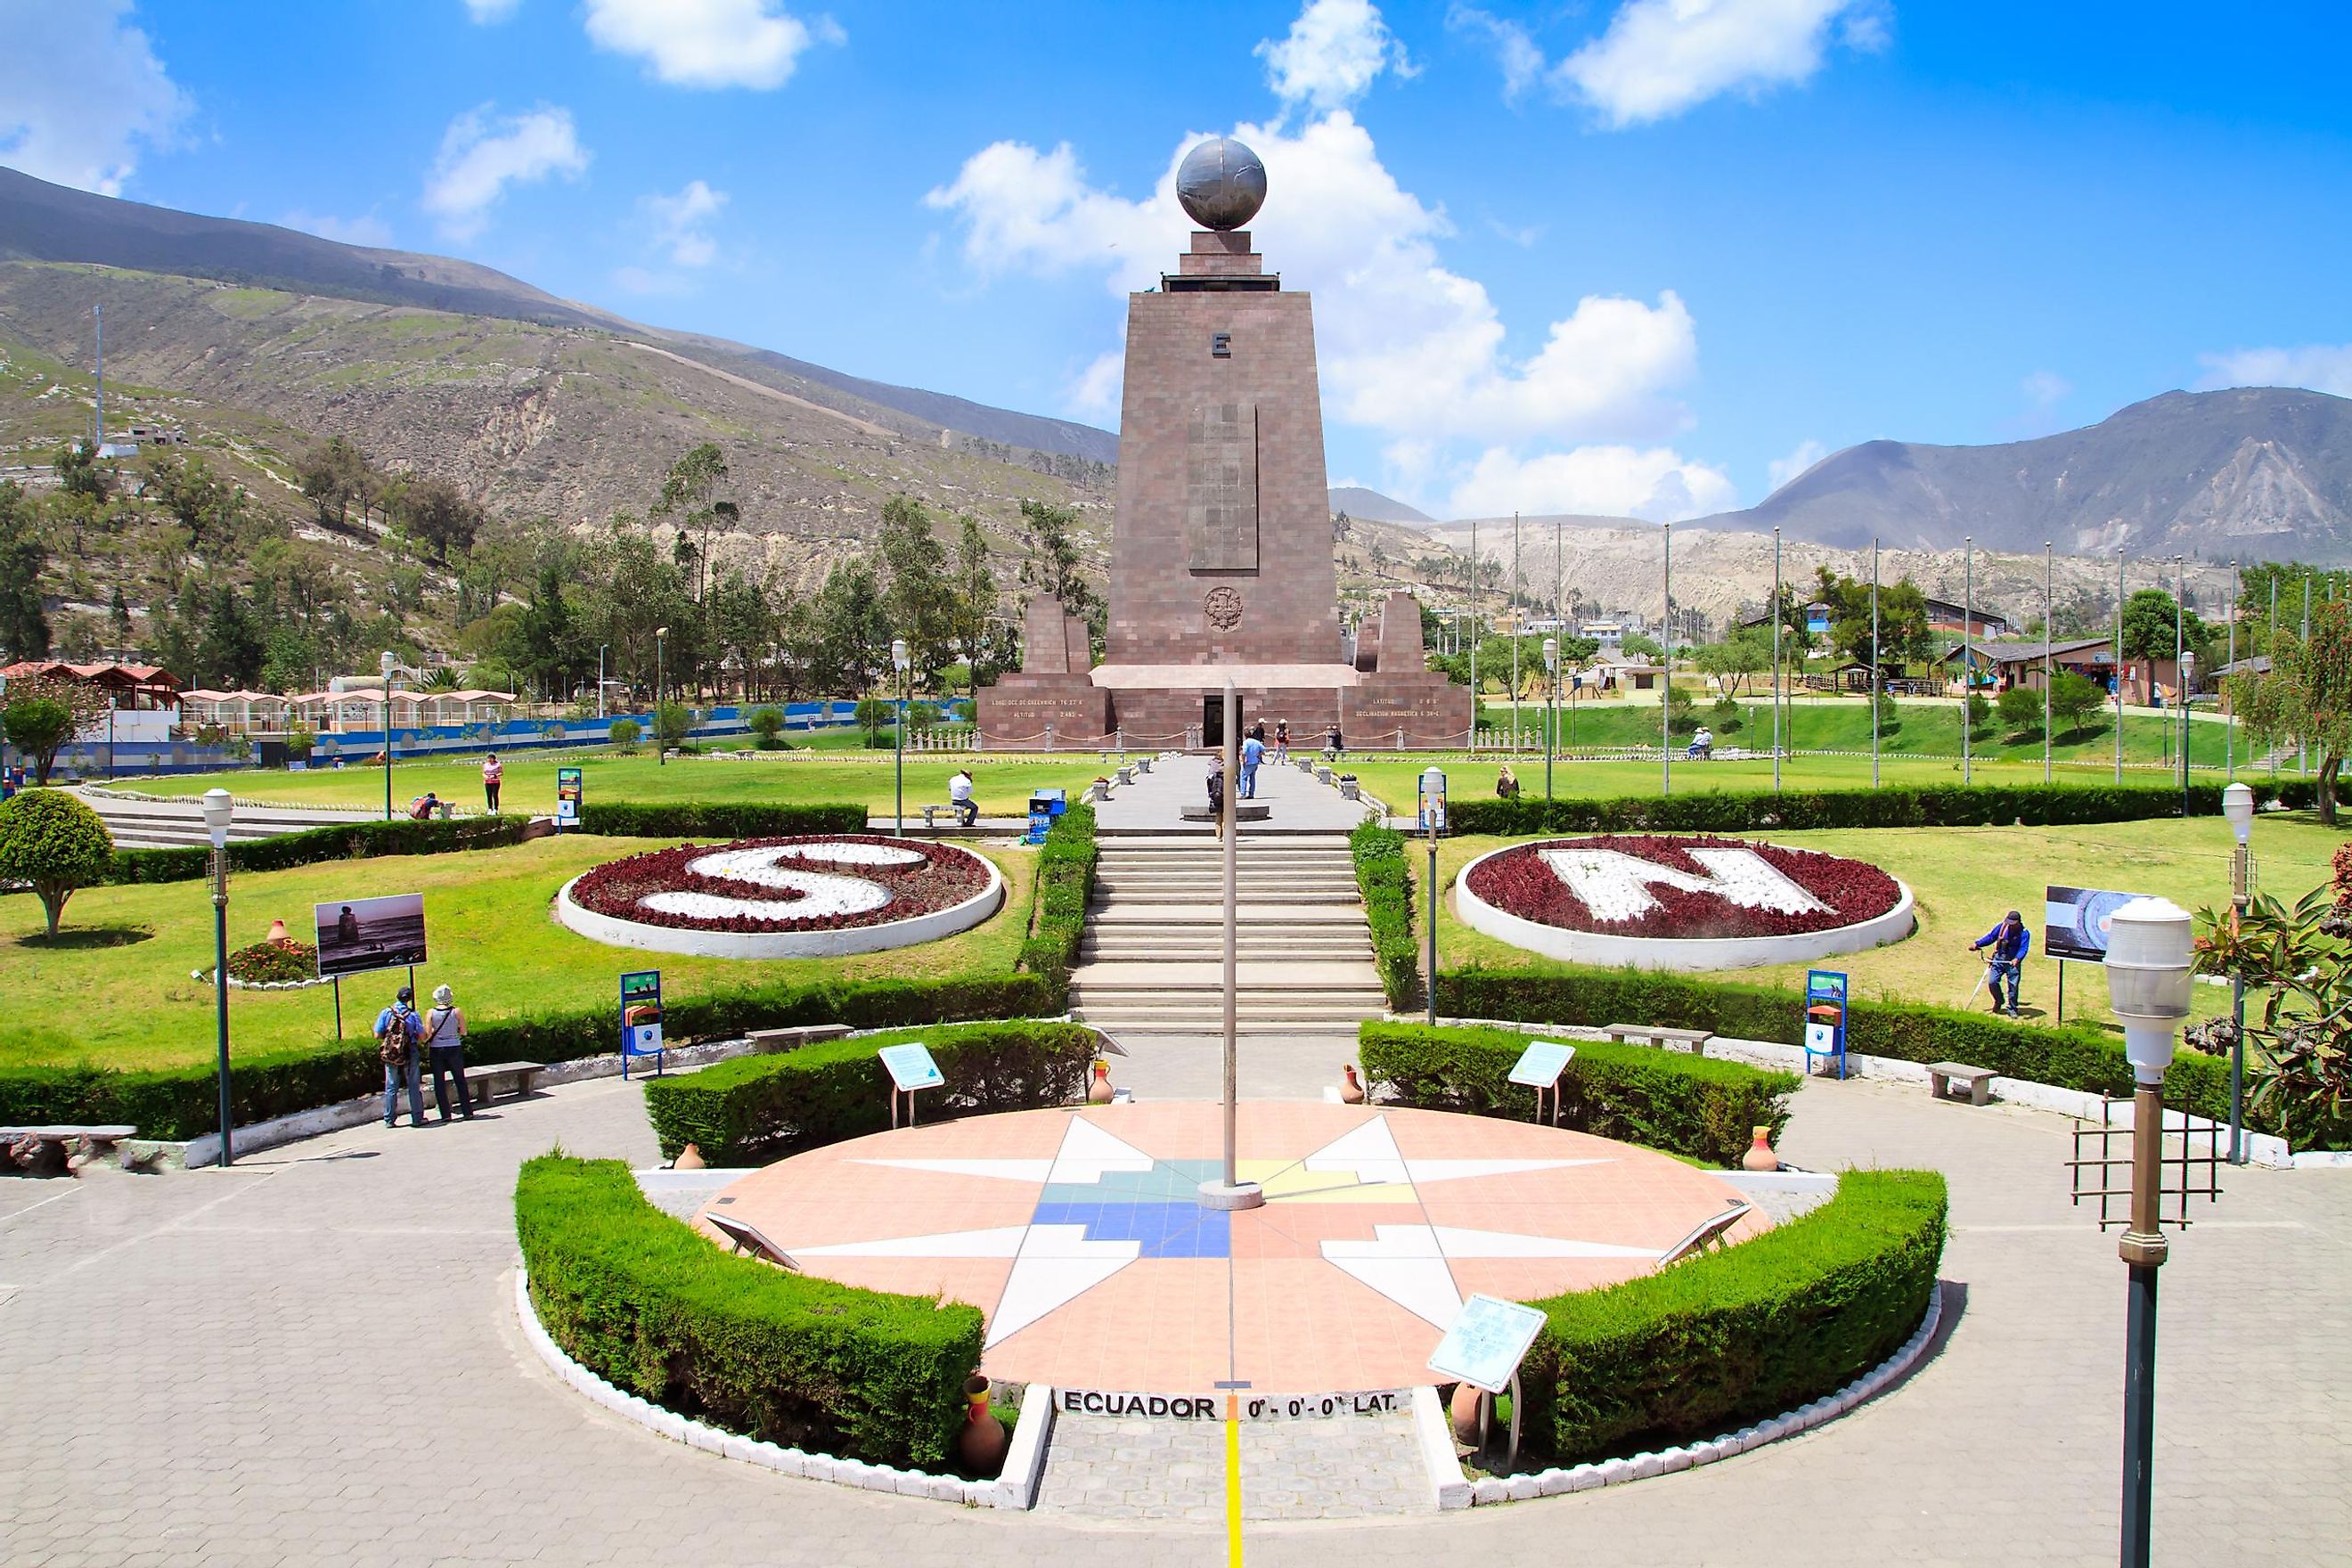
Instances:
[[[661,764],[652,755],[619,757],[614,752],[532,755],[506,759],[506,811],[555,811],[555,769],[581,769],[588,802],[863,802],[875,820],[887,820],[894,799],[891,752],[769,752],[764,757],[673,757]],[[1049,757],[910,752],[906,759],[906,809],[948,799],[948,773],[971,769],[974,795],[983,816],[1025,816],[1035,788],[1063,788],[1075,799],[1103,771],[1096,752],[1061,752]],[[245,802],[282,806],[358,806],[383,809],[383,769],[172,773],[167,778],[125,778],[127,790],[146,795],[195,797],[214,785]],[[482,809],[482,759],[454,757],[393,764],[393,802],[433,790],[461,809]]]

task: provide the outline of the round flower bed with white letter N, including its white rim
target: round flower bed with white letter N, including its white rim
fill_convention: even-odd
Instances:
[[[1910,891],[1863,860],[1750,839],[1597,835],[1463,867],[1465,924],[1590,964],[1736,969],[1910,936]]]

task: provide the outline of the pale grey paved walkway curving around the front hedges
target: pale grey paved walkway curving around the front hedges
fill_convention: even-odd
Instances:
[[[1216,1526],[976,1514],[668,1443],[513,1326],[515,1164],[649,1161],[635,1086],[235,1171],[0,1180],[0,1561],[1225,1563]],[[1470,1516],[1261,1523],[1254,1563],[2112,1563],[2124,1269],[2065,1124],[1813,1084],[1785,1150],[1950,1171],[1952,1331],[1886,1399],[1700,1472]],[[2164,1269],[2157,1559],[2352,1563],[2352,1173],[2234,1171]]]

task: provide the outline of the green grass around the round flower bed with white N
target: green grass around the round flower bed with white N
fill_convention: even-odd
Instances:
[[[1900,943],[1870,952],[1825,959],[1823,969],[1853,976],[1856,997],[1889,997],[1959,1006],[1969,997],[1983,961],[1969,954],[1969,943],[1983,936],[2006,910],[2025,914],[2034,931],[2034,957],[2025,964],[2020,1011],[2025,1018],[2051,1018],[2056,1011],[2056,964],[2042,957],[2042,889],[2103,886],[2131,893],[2157,893],[2185,910],[2223,905],[2230,898],[2230,825],[2220,818],[2100,823],[2089,827],[1849,827],[1823,832],[1773,832],[1773,844],[1820,849],[1870,860],[1900,877],[1917,900],[1919,929]],[[1559,969],[1491,936],[1470,931],[1454,917],[1451,886],[1461,867],[1477,856],[1524,839],[1463,837],[1437,846],[1437,875],[1446,889],[1437,917],[1437,961],[1442,969],[1479,964],[1486,969]],[[2321,827],[2310,813],[2272,813],[2256,823],[2253,851],[2258,891],[2293,900],[2328,879],[2328,858],[2343,835]],[[1414,877],[1423,875],[1425,851],[1406,846]],[[1416,889],[1416,896],[1418,889]],[[1414,910],[1416,919],[1421,910]],[[1806,964],[1722,971],[1724,978],[1804,985]],[[2197,987],[2197,1011],[2218,1013],[2230,992]],[[1990,1006],[1978,997],[1976,1006]],[[2107,987],[2089,964],[2067,964],[2067,1018],[2107,1018]]]

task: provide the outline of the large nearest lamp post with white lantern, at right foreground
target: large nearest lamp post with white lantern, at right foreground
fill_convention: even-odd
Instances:
[[[2131,1060],[2131,1222],[2117,1253],[2131,1269],[2124,1349],[2124,1568],[2145,1568],[2157,1450],[2157,1225],[2164,1161],[2164,1070],[2190,1013],[2190,912],[2169,898],[2133,898],[2107,936],[2107,1001]]]

